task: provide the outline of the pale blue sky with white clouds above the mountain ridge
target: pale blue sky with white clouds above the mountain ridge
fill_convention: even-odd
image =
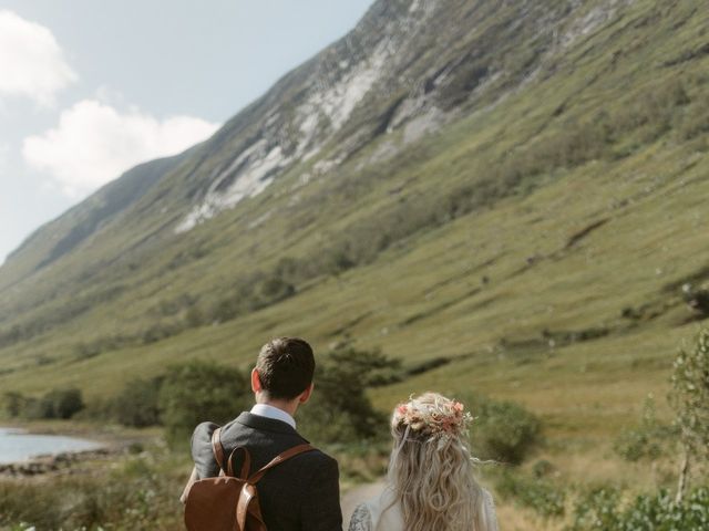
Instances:
[[[0,263],[138,163],[209,137],[372,0],[0,0]]]

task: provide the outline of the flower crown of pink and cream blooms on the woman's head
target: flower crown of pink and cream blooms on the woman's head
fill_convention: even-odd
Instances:
[[[440,395],[422,395],[399,404],[392,419],[394,426],[403,425],[422,435],[448,436],[465,431],[472,420],[463,404]]]

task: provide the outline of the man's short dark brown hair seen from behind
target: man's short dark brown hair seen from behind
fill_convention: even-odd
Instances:
[[[290,400],[312,383],[312,348],[299,337],[271,340],[258,353],[256,371],[270,398]]]

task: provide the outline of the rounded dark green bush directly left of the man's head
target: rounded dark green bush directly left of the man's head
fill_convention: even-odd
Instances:
[[[178,448],[189,441],[197,424],[224,424],[250,402],[248,378],[237,368],[213,362],[189,362],[168,368],[158,405],[167,442]]]

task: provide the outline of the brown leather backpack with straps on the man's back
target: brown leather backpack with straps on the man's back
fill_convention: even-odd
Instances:
[[[248,449],[243,446],[232,451],[225,467],[220,431],[222,428],[217,428],[212,434],[212,451],[224,476],[201,479],[192,485],[185,501],[187,530],[267,531],[258,503],[256,483],[271,468],[315,448],[310,445],[294,446],[249,476],[251,458]],[[240,475],[234,476],[232,460],[239,451],[244,452],[244,464]]]

